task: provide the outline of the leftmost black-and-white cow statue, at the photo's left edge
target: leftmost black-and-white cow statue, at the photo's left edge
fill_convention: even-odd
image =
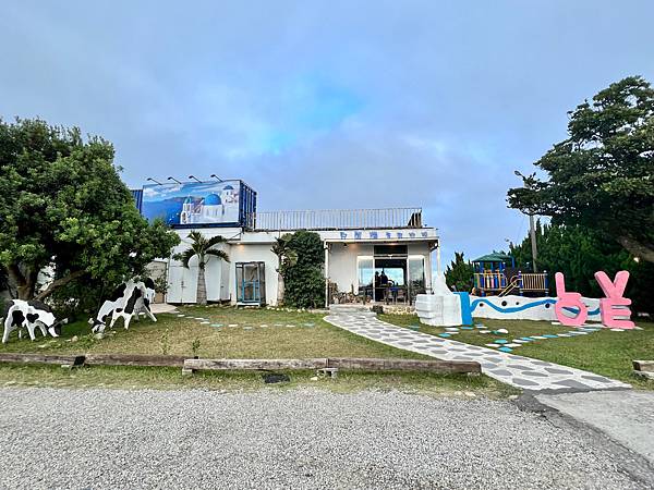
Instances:
[[[57,321],[52,308],[45,303],[32,299],[12,299],[4,311],[4,333],[2,343],[5,344],[9,335],[19,329],[19,339],[23,338],[23,328],[27,329],[31,340],[35,340],[34,331],[38,327],[44,336],[49,333],[59,336],[61,326],[68,323],[68,318]]]

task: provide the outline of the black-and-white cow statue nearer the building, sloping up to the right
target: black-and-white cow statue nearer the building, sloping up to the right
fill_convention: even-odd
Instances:
[[[88,324],[93,326],[93,332],[104,332],[107,328],[107,320],[111,319],[109,328],[113,328],[116,320],[123,319],[125,330],[130,328],[130,321],[135,318],[138,321],[138,315],[144,313],[150,320],[157,321],[149,305],[155,298],[155,283],[152,279],[135,282],[129,280],[123,282],[102,303],[100,310],[95,318],[88,319]]]

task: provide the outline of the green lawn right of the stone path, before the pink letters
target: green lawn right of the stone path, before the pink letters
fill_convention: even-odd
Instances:
[[[420,323],[412,315],[380,315],[389,323],[410,327],[420,326],[420,331],[431,334],[445,332],[440,327]],[[475,323],[488,327],[488,330],[507,329],[508,334],[483,334],[475,330],[460,330],[450,339],[474,345],[485,345],[496,339],[513,339],[544,333],[565,333],[571,328],[554,326],[548,321],[530,320],[491,320],[476,318]],[[522,344],[513,354],[548,360],[564,366],[589,370],[632,384],[634,388],[654,390],[654,381],[647,381],[632,373],[633,359],[654,359],[654,323],[639,322],[643,330],[611,332],[603,329],[588,335],[547,339]]]

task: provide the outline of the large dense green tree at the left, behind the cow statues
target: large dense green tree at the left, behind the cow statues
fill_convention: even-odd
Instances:
[[[44,298],[85,278],[117,283],[178,242],[134,206],[107,140],[40,120],[0,120],[0,266],[17,296]],[[49,286],[37,278],[53,266]]]

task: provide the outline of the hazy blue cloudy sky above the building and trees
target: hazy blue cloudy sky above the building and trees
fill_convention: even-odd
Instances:
[[[611,82],[654,81],[654,2],[0,5],[0,117],[78,125],[145,179],[243,179],[259,209],[422,206],[444,259],[520,240],[513,170]]]

